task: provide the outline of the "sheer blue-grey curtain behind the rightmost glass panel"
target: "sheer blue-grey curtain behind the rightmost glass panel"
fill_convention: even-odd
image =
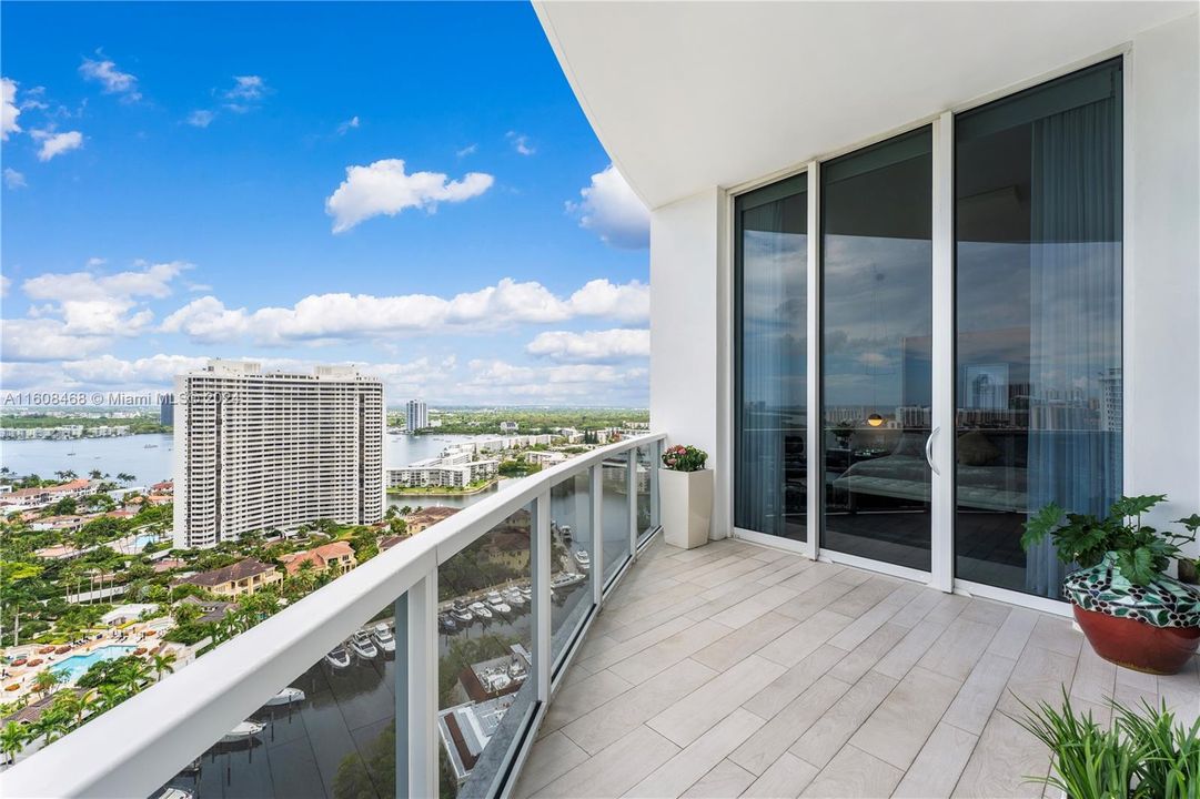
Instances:
[[[1121,142],[1110,96],[1032,124],[1028,512],[1121,493]],[[1060,596],[1049,541],[1026,588]]]

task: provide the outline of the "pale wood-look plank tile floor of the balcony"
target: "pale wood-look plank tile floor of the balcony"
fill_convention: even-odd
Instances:
[[[590,636],[516,795],[1039,797],[1016,697],[1200,714],[1200,659],[1129,672],[1068,619],[745,541],[654,542]]]

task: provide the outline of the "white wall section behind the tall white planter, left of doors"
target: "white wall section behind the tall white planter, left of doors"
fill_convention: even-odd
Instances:
[[[720,302],[724,192],[701,192],[650,214],[650,428],[667,445],[708,452],[716,470],[710,537],[728,529],[728,456],[721,431],[727,335]]]

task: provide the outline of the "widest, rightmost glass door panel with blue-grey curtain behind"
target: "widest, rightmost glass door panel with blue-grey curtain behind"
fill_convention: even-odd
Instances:
[[[1121,493],[1121,62],[954,130],[956,576],[1058,599],[1025,521]]]

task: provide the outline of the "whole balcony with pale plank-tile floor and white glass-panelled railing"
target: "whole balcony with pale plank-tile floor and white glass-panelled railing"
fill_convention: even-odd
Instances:
[[[662,543],[662,438],[412,536],[18,763],[5,794],[1040,795],[1018,698],[1200,713],[1195,665],[1120,669],[1060,615]]]

